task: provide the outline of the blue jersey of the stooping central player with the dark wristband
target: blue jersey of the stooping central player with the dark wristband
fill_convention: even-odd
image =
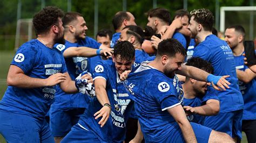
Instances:
[[[78,124],[95,134],[102,141],[122,142],[125,139],[125,123],[133,106],[132,101],[111,60],[98,62],[93,78],[104,78],[106,80],[107,97],[111,104],[110,117],[106,124],[100,127],[98,122],[101,118],[96,120],[93,115],[102,108],[102,105],[97,99],[94,99],[90,104],[91,108],[80,117]]]

